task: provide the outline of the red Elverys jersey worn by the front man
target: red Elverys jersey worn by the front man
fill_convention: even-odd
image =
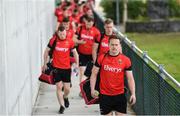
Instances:
[[[123,54],[111,56],[109,53],[98,57],[95,66],[100,67],[100,93],[118,95],[124,93],[124,75],[131,70],[131,61]]]

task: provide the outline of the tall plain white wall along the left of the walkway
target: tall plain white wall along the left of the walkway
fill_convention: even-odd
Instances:
[[[54,0],[0,1],[0,114],[31,114],[54,7]]]

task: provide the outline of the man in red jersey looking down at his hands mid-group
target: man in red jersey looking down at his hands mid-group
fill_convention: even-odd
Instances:
[[[80,83],[84,80],[84,71],[87,63],[95,61],[93,58],[96,54],[92,52],[93,44],[95,44],[95,41],[99,42],[101,36],[100,31],[93,24],[94,17],[87,16],[85,18],[85,25],[77,29],[76,36],[74,37],[75,43],[78,44]]]

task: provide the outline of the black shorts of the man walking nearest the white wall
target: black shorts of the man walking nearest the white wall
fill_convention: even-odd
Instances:
[[[54,82],[66,82],[70,83],[71,82],[71,69],[59,69],[55,68],[55,71],[53,72],[54,76]]]

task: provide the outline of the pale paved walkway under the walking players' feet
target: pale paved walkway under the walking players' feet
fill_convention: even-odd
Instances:
[[[71,93],[69,95],[70,106],[64,112],[64,115],[100,115],[98,105],[85,105],[84,99],[78,96],[79,78],[72,78]],[[59,104],[56,98],[56,88],[54,85],[41,83],[39,95],[33,115],[58,115]],[[128,114],[134,114],[128,107]]]

